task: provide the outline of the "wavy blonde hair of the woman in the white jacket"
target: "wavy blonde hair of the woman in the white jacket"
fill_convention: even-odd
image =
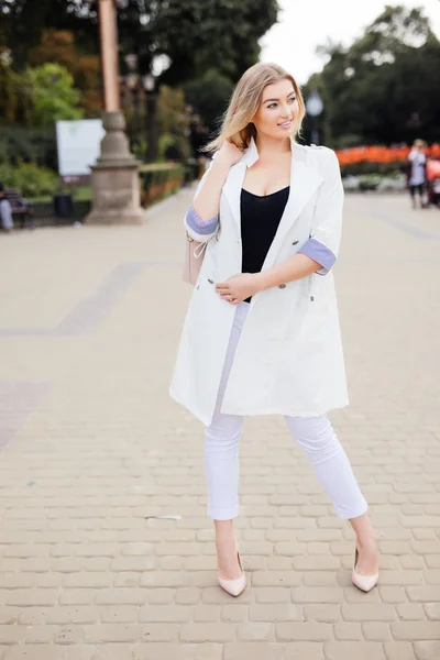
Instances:
[[[265,64],[260,62],[251,66],[240,78],[232,94],[229,108],[223,116],[222,125],[218,136],[205,146],[202,151],[218,151],[223,142],[229,140],[241,150],[249,147],[251,139],[256,136],[256,129],[252,119],[257,112],[263,91],[267,85],[278,80],[290,80],[298,99],[299,113],[295,134],[301,129],[302,119],[306,114],[306,106],[301,91],[295,78],[277,64]]]

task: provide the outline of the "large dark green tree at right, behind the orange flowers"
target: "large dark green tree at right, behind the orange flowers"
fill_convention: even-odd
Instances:
[[[420,9],[387,7],[349,48],[321,47],[318,76],[334,144],[439,140],[440,43]],[[315,77],[317,81],[317,77]]]

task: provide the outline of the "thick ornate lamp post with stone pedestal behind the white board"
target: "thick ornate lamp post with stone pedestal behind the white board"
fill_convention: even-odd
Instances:
[[[127,0],[98,0],[103,79],[101,154],[91,167],[92,209],[89,224],[142,223],[139,163],[130,153],[125,120],[120,108],[118,75],[117,7]]]

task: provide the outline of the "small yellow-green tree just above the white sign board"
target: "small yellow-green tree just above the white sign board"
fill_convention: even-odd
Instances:
[[[84,117],[79,108],[80,92],[74,88],[74,78],[59,64],[43,64],[26,72],[33,90],[32,128],[52,127],[57,120]]]

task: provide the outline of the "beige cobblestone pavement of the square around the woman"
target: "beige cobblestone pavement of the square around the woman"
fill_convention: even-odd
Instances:
[[[190,191],[144,227],[0,235],[0,660],[439,660],[440,212],[348,196],[336,271],[381,583],[282,419],[251,418],[216,585],[202,428],[168,398]],[[182,516],[163,519],[155,516]]]

